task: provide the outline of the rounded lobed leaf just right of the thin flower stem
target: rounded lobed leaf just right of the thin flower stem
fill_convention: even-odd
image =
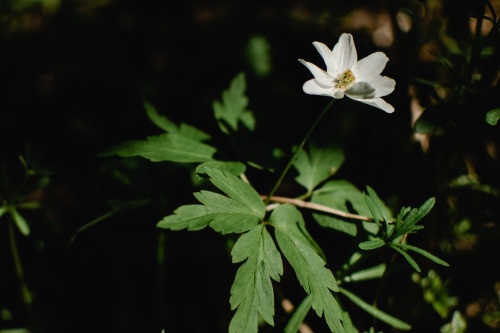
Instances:
[[[293,164],[299,173],[295,180],[311,192],[319,183],[332,176],[343,162],[344,153],[340,147],[311,146],[309,152],[302,150]]]

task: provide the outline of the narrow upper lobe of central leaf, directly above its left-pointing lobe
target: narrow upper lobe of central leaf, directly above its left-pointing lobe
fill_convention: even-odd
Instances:
[[[210,181],[221,191],[248,208],[255,216],[264,218],[266,207],[252,186],[224,170],[206,168],[205,171]]]

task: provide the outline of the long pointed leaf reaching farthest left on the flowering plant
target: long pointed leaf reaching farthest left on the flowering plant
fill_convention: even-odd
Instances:
[[[166,133],[148,137],[146,140],[125,141],[100,153],[99,156],[140,156],[152,162],[192,163],[209,161],[216,151],[215,148],[199,141],[175,133]]]

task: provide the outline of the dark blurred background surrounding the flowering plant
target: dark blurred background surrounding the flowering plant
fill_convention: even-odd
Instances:
[[[370,185],[395,212],[435,196],[413,241],[451,264],[422,259],[419,275],[396,261],[382,284],[357,292],[370,299],[379,290],[380,307],[415,332],[438,332],[455,310],[470,332],[500,331],[499,129],[484,121],[499,105],[498,27],[489,34],[493,23],[476,19],[500,10],[497,0],[486,4],[2,1],[0,200],[19,205],[29,234],[1,211],[0,332],[227,331],[237,269],[228,239],[156,227],[193,202],[190,167],[97,155],[160,133],[145,100],[177,123],[216,133],[212,103],[240,72],[256,137],[288,151],[328,102],[302,92],[310,73],[297,59],[322,67],[312,42],[333,47],[343,32],[353,34],[359,58],[388,55],[383,75],[397,85],[385,99],[396,111],[340,100],[312,140],[341,143],[337,176]],[[475,89],[455,89],[464,83]],[[250,176],[263,192],[275,179]],[[291,183],[279,194],[294,195]],[[341,264],[352,239],[310,228],[331,265]],[[304,296],[292,272],[280,285],[296,304]],[[278,300],[277,311],[266,332],[283,330]],[[360,331],[374,324],[352,311]],[[327,331],[314,315],[308,323]]]

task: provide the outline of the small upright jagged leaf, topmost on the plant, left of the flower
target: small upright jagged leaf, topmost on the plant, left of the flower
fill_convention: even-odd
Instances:
[[[245,74],[240,73],[231,81],[229,88],[222,93],[222,102],[213,103],[215,118],[219,121],[219,127],[224,133],[236,131],[239,122],[250,131],[255,128],[253,114],[246,110],[248,98],[245,96],[245,89]]]

